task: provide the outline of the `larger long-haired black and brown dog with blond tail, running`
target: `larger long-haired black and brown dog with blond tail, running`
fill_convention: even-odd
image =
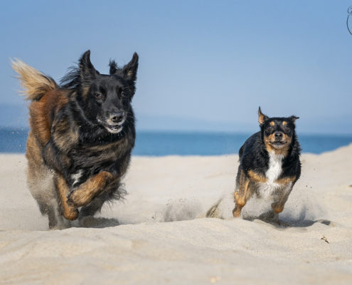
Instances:
[[[120,179],[136,136],[131,100],[137,53],[122,68],[110,61],[110,75],[103,75],[86,51],[60,85],[22,61],[12,67],[31,100],[28,187],[49,227],[64,227],[65,219],[93,215],[122,197]]]

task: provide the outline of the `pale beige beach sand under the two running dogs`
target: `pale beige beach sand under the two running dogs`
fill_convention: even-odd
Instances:
[[[351,157],[302,155],[281,225],[255,199],[230,217],[237,155],[133,157],[124,202],[48,230],[24,155],[0,155],[0,284],[352,284]]]

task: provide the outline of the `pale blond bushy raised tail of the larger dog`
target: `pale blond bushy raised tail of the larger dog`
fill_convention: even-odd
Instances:
[[[40,100],[50,90],[58,88],[53,78],[46,76],[17,58],[11,60],[11,66],[18,73],[18,79],[23,88],[21,93],[26,96],[27,100]]]

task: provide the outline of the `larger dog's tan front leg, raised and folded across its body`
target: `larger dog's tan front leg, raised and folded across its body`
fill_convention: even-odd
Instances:
[[[77,189],[70,192],[67,197],[67,203],[71,207],[82,207],[89,204],[92,199],[100,195],[107,185],[115,180],[114,175],[107,171],[99,172],[97,175],[88,178]]]

